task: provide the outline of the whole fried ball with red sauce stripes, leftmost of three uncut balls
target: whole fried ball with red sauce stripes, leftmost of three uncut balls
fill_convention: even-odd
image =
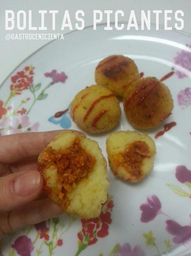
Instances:
[[[121,109],[117,97],[111,91],[92,85],[75,96],[70,114],[85,131],[100,133],[111,130],[119,123]]]

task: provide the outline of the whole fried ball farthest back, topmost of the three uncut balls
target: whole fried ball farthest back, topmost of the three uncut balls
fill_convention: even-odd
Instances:
[[[119,97],[123,97],[129,84],[139,78],[139,71],[134,61],[122,55],[104,58],[95,69],[96,83],[108,88]]]

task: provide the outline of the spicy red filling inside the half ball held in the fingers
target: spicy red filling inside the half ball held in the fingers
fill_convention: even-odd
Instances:
[[[38,170],[42,173],[45,168],[53,166],[57,169],[59,181],[62,184],[62,191],[58,197],[64,200],[64,205],[69,205],[67,194],[75,187],[76,182],[88,176],[96,162],[95,157],[89,155],[80,145],[80,139],[65,149],[54,150],[47,147],[40,155]],[[45,193],[50,195],[51,189],[47,187],[45,180]]]

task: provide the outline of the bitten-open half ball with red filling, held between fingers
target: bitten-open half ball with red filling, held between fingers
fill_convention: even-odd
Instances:
[[[64,131],[38,157],[45,193],[66,213],[94,218],[107,200],[107,162],[97,142]]]

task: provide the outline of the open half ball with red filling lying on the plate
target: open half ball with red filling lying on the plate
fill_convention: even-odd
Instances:
[[[114,132],[106,144],[109,165],[114,175],[122,180],[140,181],[153,169],[156,147],[147,134]]]

